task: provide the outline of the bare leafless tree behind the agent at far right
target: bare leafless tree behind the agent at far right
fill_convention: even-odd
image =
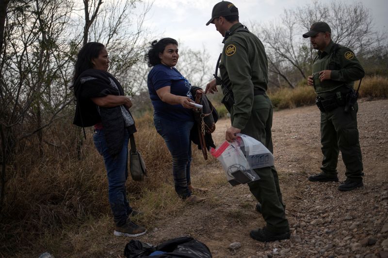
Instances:
[[[326,21],[332,28],[333,41],[350,47],[357,55],[365,54],[383,39],[373,30],[370,10],[361,2],[345,4],[332,0],[325,4],[315,0],[295,10],[284,10],[278,20],[266,26],[259,28],[253,24],[266,47],[269,71],[275,75],[270,76],[270,82],[274,85],[294,88],[300,79],[307,78],[315,50],[302,34],[317,21]]]

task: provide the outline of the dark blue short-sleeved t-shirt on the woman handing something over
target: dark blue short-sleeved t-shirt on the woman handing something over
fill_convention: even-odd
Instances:
[[[167,104],[156,93],[157,90],[170,86],[171,94],[193,99],[189,80],[183,77],[176,68],[164,64],[155,65],[148,73],[147,86],[155,114],[172,121],[194,121],[192,109],[184,108],[180,104]]]

